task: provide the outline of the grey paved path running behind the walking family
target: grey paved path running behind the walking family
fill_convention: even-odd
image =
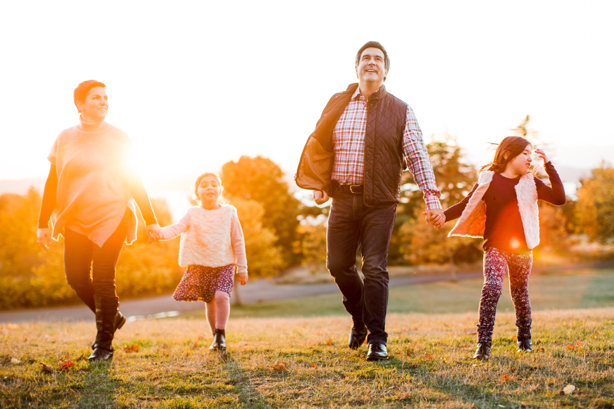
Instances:
[[[458,279],[480,278],[481,272],[457,273]],[[390,279],[391,287],[408,286],[424,282],[446,281],[449,275],[426,275],[410,277],[394,277]],[[248,282],[239,289],[241,302],[250,304],[262,301],[289,300],[290,298],[311,297],[321,294],[339,293],[336,284],[274,284],[268,280]],[[234,296],[234,295],[233,295]],[[341,302],[341,297],[340,297]],[[204,309],[202,302],[178,302],[171,295],[161,295],[141,300],[120,302],[120,310],[131,321],[137,319],[155,319],[166,316],[177,316],[189,311]],[[94,314],[86,306],[69,306],[59,308],[41,308],[37,310],[19,310],[0,313],[0,323],[28,321],[94,321]]]

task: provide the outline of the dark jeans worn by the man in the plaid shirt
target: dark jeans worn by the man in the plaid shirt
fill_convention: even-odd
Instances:
[[[387,255],[397,204],[367,207],[363,195],[335,193],[327,229],[326,267],[343,294],[343,305],[355,325],[367,325],[367,343],[386,344],[388,307]],[[363,282],[356,269],[362,244]],[[359,327],[360,328],[360,327]]]

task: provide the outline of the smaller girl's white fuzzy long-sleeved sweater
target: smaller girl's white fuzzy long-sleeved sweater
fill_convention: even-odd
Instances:
[[[247,273],[245,240],[235,206],[207,210],[193,206],[176,224],[164,227],[161,240],[181,235],[179,265],[223,267],[236,263],[238,273]]]

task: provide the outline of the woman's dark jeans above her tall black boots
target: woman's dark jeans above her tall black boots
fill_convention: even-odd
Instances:
[[[96,312],[94,295],[117,297],[115,293],[115,265],[128,233],[132,212],[126,209],[122,222],[115,232],[96,246],[86,236],[64,228],[64,271],[66,281],[75,290],[77,297]],[[91,276],[90,276],[91,272]]]

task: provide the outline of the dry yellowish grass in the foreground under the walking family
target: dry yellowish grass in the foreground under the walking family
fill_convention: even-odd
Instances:
[[[499,314],[492,357],[477,365],[475,319],[391,314],[382,363],[347,348],[348,317],[233,319],[226,362],[208,352],[201,319],[133,322],[117,333],[114,362],[93,365],[91,323],[3,325],[0,407],[614,408],[614,308],[535,313],[527,355],[510,339],[513,314]],[[76,362],[68,372],[42,373],[39,362],[65,359]],[[567,384],[575,391],[561,394]]]

